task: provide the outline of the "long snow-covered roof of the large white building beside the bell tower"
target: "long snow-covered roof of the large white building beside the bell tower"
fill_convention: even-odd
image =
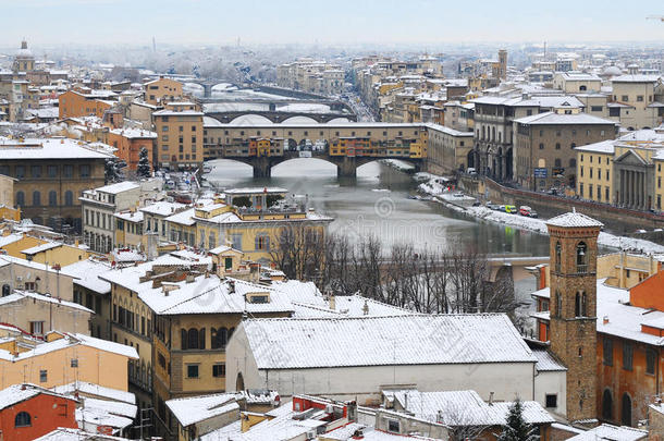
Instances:
[[[501,314],[250,319],[242,327],[259,369],[537,362]]]

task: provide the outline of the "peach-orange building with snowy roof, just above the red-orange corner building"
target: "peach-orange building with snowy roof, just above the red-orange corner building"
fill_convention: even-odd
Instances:
[[[0,344],[0,388],[28,382],[44,388],[85,381],[104,388],[127,390],[127,360],[136,351],[83,334],[51,333],[47,342]]]

